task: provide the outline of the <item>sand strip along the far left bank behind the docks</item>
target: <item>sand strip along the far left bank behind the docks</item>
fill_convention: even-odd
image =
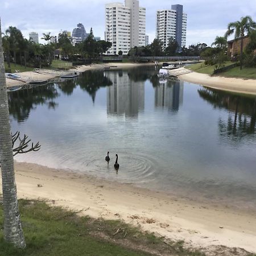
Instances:
[[[111,69],[120,69],[120,68],[133,68],[133,67],[140,67],[145,65],[155,65],[154,63],[146,63],[146,64],[139,64],[139,63],[106,63],[106,64],[92,64],[92,65],[80,65],[77,67],[74,67],[73,69],[69,69],[69,73],[73,72],[85,72],[87,70],[91,69],[105,69],[105,68],[111,68]],[[20,76],[20,80],[28,81],[28,80],[34,80],[34,81],[40,81],[40,80],[48,80],[53,79],[58,74],[46,74],[46,73],[37,73],[34,71],[26,71],[26,72],[19,72],[15,73],[16,75]],[[25,82],[14,80],[14,79],[6,79],[6,85],[7,88],[10,88],[12,86],[22,85]]]

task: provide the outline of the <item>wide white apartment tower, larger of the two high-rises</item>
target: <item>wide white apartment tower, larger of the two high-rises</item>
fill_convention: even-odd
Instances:
[[[108,55],[127,54],[131,48],[145,45],[146,9],[139,7],[138,0],[125,0],[125,5],[107,3],[105,14],[105,37],[112,43]]]

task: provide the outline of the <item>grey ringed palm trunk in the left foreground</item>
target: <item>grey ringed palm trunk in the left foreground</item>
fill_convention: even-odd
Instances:
[[[16,183],[14,176],[13,145],[11,141],[11,127],[3,63],[3,48],[0,20],[0,158],[2,171],[4,234],[7,242],[16,247],[26,247],[20,223]]]

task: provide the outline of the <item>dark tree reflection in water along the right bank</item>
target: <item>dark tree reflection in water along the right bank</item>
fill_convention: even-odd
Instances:
[[[210,88],[199,89],[198,93],[214,108],[228,110],[228,119],[220,118],[218,121],[222,138],[239,142],[243,138],[250,139],[251,134],[255,134],[256,98],[254,96],[241,96]]]

